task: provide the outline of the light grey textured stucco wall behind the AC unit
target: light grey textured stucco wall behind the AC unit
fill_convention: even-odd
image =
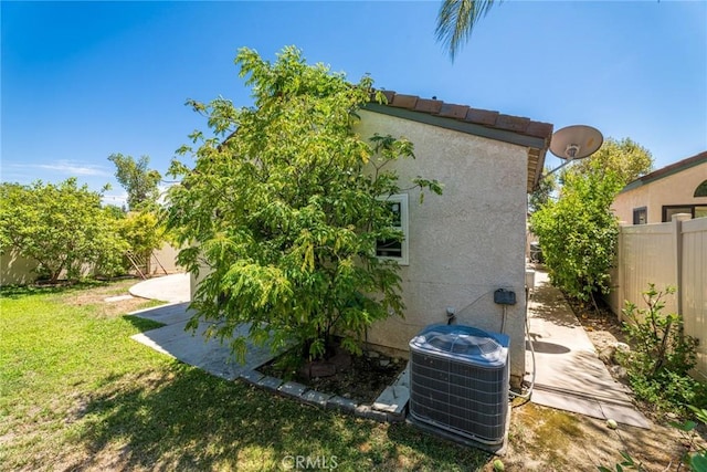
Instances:
[[[504,307],[494,291],[516,293],[507,306],[510,374],[525,373],[525,239],[527,149],[464,133],[361,112],[356,132],[404,136],[414,160],[393,162],[400,187],[422,176],[444,185],[444,195],[409,192],[409,265],[401,268],[404,319],[391,317],[368,332],[368,342],[408,350],[424,326],[446,323],[453,307],[460,324],[500,332]]]

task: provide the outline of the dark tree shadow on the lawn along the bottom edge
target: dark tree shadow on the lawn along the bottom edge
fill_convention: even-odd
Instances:
[[[293,457],[338,470],[453,470],[487,454],[423,434],[302,405],[175,363],[102,382],[81,411],[72,469],[279,470]]]

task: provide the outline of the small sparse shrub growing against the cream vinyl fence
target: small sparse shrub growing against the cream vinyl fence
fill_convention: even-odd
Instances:
[[[623,310],[629,323],[626,336],[634,348],[622,363],[636,396],[657,408],[680,411],[684,405],[701,405],[707,399],[705,386],[689,376],[696,364],[697,339],[683,333],[679,314],[663,314],[665,296],[674,287],[658,292],[648,284],[643,293],[646,308],[626,302]]]

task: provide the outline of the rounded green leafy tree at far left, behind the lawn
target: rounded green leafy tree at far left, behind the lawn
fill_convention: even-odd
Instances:
[[[56,282],[92,264],[105,274],[120,268],[126,243],[116,235],[116,220],[102,208],[99,192],[78,187],[75,178],[59,185],[0,185],[0,249],[15,250],[39,262]]]

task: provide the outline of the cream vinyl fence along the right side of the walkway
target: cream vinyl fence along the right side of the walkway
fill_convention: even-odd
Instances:
[[[685,334],[699,339],[696,373],[707,380],[707,218],[689,218],[680,213],[668,223],[621,227],[609,303],[621,317],[624,301],[645,306],[648,283],[657,290],[676,286],[664,312],[680,313]]]

